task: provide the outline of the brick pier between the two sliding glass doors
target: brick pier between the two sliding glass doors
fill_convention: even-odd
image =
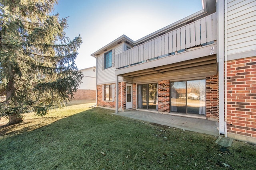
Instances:
[[[170,112],[170,80],[158,81],[158,111]]]

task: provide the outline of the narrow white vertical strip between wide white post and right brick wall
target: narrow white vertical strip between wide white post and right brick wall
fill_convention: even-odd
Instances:
[[[227,16],[228,16],[228,1],[225,0],[225,26],[224,26],[224,30],[225,30],[225,40],[224,40],[224,44],[225,44],[225,137],[228,137],[228,132],[227,132],[227,106],[228,106],[228,96],[227,96],[227,60],[228,60],[228,51],[227,51]]]

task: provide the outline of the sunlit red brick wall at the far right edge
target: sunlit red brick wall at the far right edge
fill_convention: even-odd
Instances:
[[[256,57],[227,63],[227,131],[256,137]]]

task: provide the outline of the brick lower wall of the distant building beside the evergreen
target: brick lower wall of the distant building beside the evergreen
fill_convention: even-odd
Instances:
[[[96,90],[78,89],[72,100],[96,100]]]

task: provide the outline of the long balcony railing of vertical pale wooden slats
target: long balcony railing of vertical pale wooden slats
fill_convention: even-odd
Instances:
[[[216,13],[116,55],[116,68],[174,55],[216,40]]]

